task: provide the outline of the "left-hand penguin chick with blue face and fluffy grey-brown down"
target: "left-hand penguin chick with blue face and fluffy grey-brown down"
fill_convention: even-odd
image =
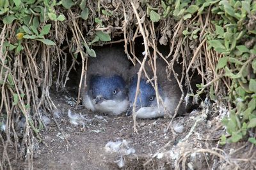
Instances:
[[[97,57],[88,59],[83,105],[92,111],[120,115],[127,110],[127,71],[129,61],[122,48],[102,47]]]

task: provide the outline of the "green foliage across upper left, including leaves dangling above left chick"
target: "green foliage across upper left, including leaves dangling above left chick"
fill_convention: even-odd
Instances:
[[[45,45],[55,45],[54,41],[45,38],[52,28],[52,22],[62,22],[66,19],[65,15],[56,12],[58,6],[63,6],[65,9],[70,9],[74,6],[79,5],[81,9],[80,17],[83,20],[87,20],[90,14],[89,8],[87,7],[86,0],[82,1],[72,1],[72,0],[62,0],[56,3],[56,1],[0,1],[0,15],[3,15],[4,24],[13,24],[13,22],[18,22],[20,27],[16,30],[17,42],[8,43],[4,42],[4,49],[15,50],[15,53],[20,53],[23,47],[24,39],[33,39],[40,41]],[[100,6],[99,6],[100,8]],[[97,18],[95,16],[94,22],[99,25],[99,27],[104,28],[104,20],[102,16],[111,16],[113,11],[104,9],[101,10],[101,15]],[[7,36],[7,35],[6,35]],[[89,43],[92,45],[97,41],[110,41],[111,37],[107,32],[97,31],[95,32],[95,37],[93,41]],[[95,52],[87,45],[87,43],[82,43],[86,49],[88,55],[95,57]]]

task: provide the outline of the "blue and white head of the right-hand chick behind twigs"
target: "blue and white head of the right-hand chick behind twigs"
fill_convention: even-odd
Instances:
[[[130,108],[127,111],[127,115],[132,113],[132,105],[134,103],[138,76],[133,76],[129,85],[129,104]],[[158,85],[159,95],[163,96],[163,90],[161,85]],[[141,78],[140,91],[136,101],[136,117],[138,118],[156,118],[164,115],[163,107],[159,111],[157,106],[156,91],[147,80]]]

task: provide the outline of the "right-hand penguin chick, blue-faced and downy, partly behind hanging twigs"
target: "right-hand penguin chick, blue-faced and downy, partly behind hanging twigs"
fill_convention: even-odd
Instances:
[[[157,59],[157,84],[159,96],[163,99],[163,104],[159,102],[159,108],[157,106],[156,91],[150,82],[147,82],[145,74],[141,74],[140,80],[140,91],[138,93],[136,101],[136,117],[138,118],[157,118],[164,116],[164,108],[168,114],[173,115],[174,110],[179,104],[181,91],[179,85],[174,77],[171,81],[167,80],[166,73],[167,64],[160,59]],[[129,109],[127,110],[127,115],[132,114],[132,106],[134,103],[134,98],[136,94],[137,87],[137,72],[140,69],[140,64],[132,67],[131,74],[133,74],[129,83]],[[145,62],[145,71],[150,78],[154,78],[154,73],[151,67]],[[153,81],[154,82],[154,81]],[[178,113],[184,112],[184,103],[180,106]]]

